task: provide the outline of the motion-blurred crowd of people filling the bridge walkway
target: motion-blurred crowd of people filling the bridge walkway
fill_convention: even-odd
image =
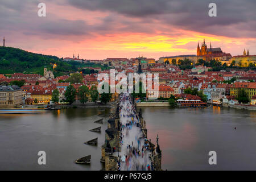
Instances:
[[[129,94],[122,94],[119,101],[121,155],[118,170],[154,170],[151,148],[144,136],[139,117]]]

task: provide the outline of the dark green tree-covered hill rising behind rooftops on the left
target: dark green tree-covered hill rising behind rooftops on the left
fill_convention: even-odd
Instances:
[[[47,56],[38,53],[23,51],[13,47],[0,47],[0,73],[37,73],[43,75],[43,68],[52,70],[52,65],[57,64],[53,70],[55,76],[66,75],[79,71],[82,67],[101,67],[109,69],[106,65],[94,63],[79,63],[76,61],[61,61],[59,57]]]

